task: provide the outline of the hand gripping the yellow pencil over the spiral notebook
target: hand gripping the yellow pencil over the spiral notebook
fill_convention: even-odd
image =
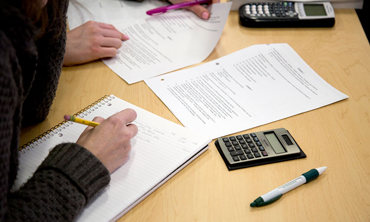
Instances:
[[[136,119],[132,109],[120,111],[107,119],[95,117],[96,127],[88,126],[76,144],[92,152],[112,173],[128,158],[130,141],[138,133],[138,127],[130,122]]]

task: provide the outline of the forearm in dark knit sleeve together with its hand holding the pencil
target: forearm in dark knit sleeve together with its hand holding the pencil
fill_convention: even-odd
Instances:
[[[135,125],[128,123],[135,118],[133,110],[121,111],[107,120],[96,117],[94,121],[100,122],[99,126],[87,127],[77,144],[60,144],[53,148],[19,190],[11,193],[10,187],[2,184],[1,190],[7,190],[1,191],[2,219],[73,221],[109,184],[110,173],[126,161],[130,141],[138,132]],[[9,161],[1,163],[1,169],[6,169],[6,163]],[[2,178],[8,176],[6,173],[9,171],[1,171]]]

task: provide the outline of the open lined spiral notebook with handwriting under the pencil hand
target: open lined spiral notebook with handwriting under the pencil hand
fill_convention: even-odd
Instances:
[[[111,183],[80,213],[76,221],[116,221],[150,193],[173,177],[207,148],[210,138],[127,103],[114,95],[105,96],[74,116],[92,120],[131,108],[139,132],[132,139],[128,160],[111,174]],[[85,125],[63,121],[22,146],[19,171],[13,190],[36,171],[55,145],[75,142]]]

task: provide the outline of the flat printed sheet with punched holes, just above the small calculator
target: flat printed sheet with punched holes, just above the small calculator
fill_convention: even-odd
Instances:
[[[211,138],[348,98],[286,43],[253,45],[145,82],[185,127]]]

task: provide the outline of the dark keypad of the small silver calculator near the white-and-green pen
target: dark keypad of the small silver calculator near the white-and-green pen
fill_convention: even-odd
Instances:
[[[255,133],[224,137],[222,141],[235,162],[268,156]]]

